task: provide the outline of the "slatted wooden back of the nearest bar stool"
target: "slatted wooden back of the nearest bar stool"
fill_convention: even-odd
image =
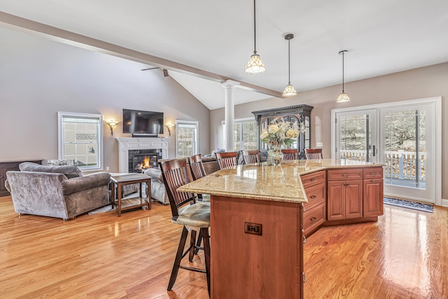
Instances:
[[[179,208],[187,203],[195,203],[193,193],[178,192],[177,188],[189,183],[187,175],[187,162],[185,159],[169,160],[159,162],[162,171],[163,183],[167,191],[169,205],[172,209],[173,218],[179,216]]]

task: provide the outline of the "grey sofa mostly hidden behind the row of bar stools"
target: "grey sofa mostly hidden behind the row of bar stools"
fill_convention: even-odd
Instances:
[[[216,162],[216,156],[202,158],[202,165],[204,165],[206,174],[211,174],[219,169],[218,162]],[[158,167],[148,168],[145,170],[144,174],[151,177],[151,197],[162,204],[169,204],[167,191],[165,189],[165,184],[163,183],[162,172],[160,172],[160,169]],[[187,175],[188,179],[193,181],[190,167],[187,167]]]

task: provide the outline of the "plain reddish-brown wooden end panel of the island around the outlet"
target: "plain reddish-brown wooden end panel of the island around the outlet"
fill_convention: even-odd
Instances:
[[[211,195],[210,226],[211,298],[303,298],[302,204]]]

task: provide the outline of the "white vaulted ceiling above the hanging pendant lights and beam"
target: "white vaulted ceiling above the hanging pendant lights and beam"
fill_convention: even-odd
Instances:
[[[266,67],[258,75],[244,73],[251,0],[0,0],[0,11],[276,92],[288,83],[287,33],[297,92],[342,83],[340,50],[348,50],[346,82],[448,61],[446,0],[258,0],[256,48]],[[224,106],[216,78],[168,69],[209,109]],[[272,97],[260,90],[237,90],[235,104]]]

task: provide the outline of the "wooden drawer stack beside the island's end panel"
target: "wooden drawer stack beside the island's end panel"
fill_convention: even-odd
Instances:
[[[326,221],[325,198],[327,197],[326,172],[314,172],[300,177],[308,202],[303,204],[303,234],[308,237]]]

